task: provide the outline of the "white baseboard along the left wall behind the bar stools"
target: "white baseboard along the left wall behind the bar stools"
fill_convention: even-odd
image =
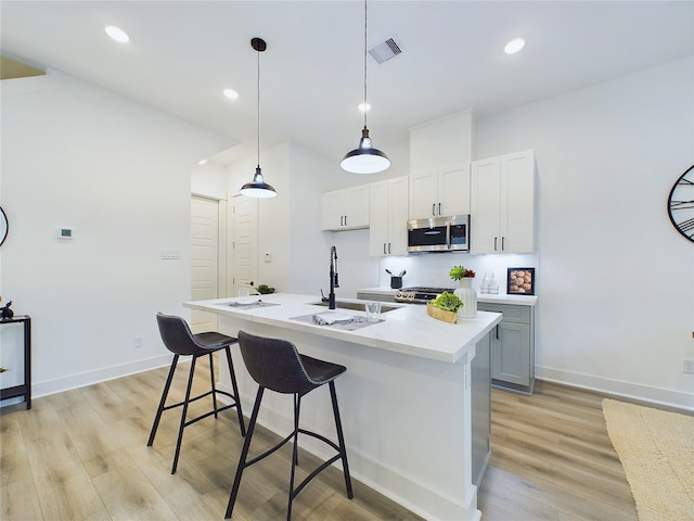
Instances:
[[[82,372],[79,374],[69,374],[55,380],[44,382],[35,382],[31,384],[31,398],[39,398],[50,394],[62,393],[63,391],[72,391],[73,389],[101,383],[116,378],[128,377],[138,372],[157,369],[171,365],[171,354],[147,358],[145,360],[131,361],[120,366],[105,367],[95,371]]]

